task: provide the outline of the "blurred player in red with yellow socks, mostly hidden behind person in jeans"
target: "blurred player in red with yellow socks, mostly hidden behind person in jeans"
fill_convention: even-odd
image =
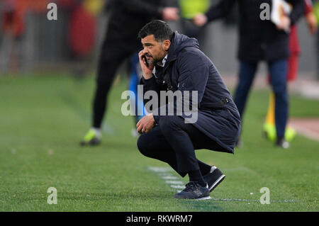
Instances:
[[[311,34],[315,34],[317,31],[317,18],[313,13],[313,4],[310,0],[304,0],[305,2],[305,12],[304,16]],[[295,81],[298,75],[298,57],[301,53],[301,47],[298,40],[298,30],[296,24],[291,26],[289,33],[289,50],[290,56],[288,59],[288,74],[287,81]],[[268,82],[270,82],[270,77],[268,75]],[[268,111],[266,116],[266,121],[264,123],[264,133],[266,137],[271,140],[276,140],[276,126],[275,126],[275,99],[274,92],[271,91],[269,95]],[[293,140],[296,136],[296,130],[290,126],[286,127],[285,139],[289,142]]]

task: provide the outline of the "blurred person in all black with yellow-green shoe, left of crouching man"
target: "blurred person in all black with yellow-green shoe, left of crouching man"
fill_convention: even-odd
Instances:
[[[164,7],[164,2],[158,0],[117,0],[111,1],[111,4],[111,15],[99,57],[92,124],[80,145],[100,143],[108,91],[121,62],[141,48],[138,30],[155,18],[166,21],[179,18],[177,8]]]

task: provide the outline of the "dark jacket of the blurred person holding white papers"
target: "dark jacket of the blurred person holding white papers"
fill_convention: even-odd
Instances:
[[[272,21],[262,21],[260,5],[267,3],[272,9],[272,0],[222,0],[206,12],[208,21],[226,16],[235,1],[239,4],[238,58],[245,62],[279,60],[289,57],[289,34],[278,30]],[[303,0],[286,0],[293,5],[289,15],[291,25],[303,15]],[[218,31],[216,31],[218,32]]]

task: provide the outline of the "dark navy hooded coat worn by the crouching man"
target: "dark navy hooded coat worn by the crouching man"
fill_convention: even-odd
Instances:
[[[159,91],[169,89],[167,81],[172,84],[172,91],[179,90],[183,95],[184,91],[198,91],[198,120],[193,125],[222,147],[214,150],[233,153],[240,134],[240,115],[219,72],[198,49],[196,39],[175,32],[164,68],[156,66],[155,75],[142,78],[140,84],[144,93],[153,90],[160,96]],[[167,106],[163,107],[168,115]],[[160,123],[161,117],[154,116],[155,122]],[[184,112],[181,117],[186,118]]]

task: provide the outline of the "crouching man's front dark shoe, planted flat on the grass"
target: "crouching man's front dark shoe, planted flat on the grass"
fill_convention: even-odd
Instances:
[[[199,185],[198,182],[191,181],[189,183],[186,183],[186,188],[184,188],[184,190],[181,191],[180,193],[175,194],[174,198],[189,198],[189,199],[204,200],[204,199],[211,199],[211,196],[209,195],[207,183],[206,183],[206,186],[202,187]]]

